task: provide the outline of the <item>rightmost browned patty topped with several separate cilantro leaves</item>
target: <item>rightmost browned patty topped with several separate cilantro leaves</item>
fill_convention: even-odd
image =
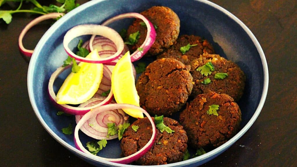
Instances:
[[[197,69],[207,62],[212,63],[214,71],[212,71],[210,75],[205,76]],[[238,101],[244,92],[246,77],[243,71],[235,63],[217,54],[204,53],[198,59],[193,60],[191,62],[190,73],[192,74],[193,82],[195,82],[191,97],[214,91],[228,94],[235,101]],[[224,79],[216,79],[214,78],[216,73],[227,73],[228,76]],[[203,84],[202,82],[207,78],[209,78],[211,82]]]

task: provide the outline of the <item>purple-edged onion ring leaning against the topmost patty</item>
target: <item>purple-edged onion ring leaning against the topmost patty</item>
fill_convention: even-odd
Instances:
[[[156,30],[154,28],[154,25],[147,18],[145,18],[143,15],[141,15],[139,13],[134,13],[134,12],[117,15],[113,18],[108,19],[101,25],[107,26],[108,24],[110,24],[114,21],[121,20],[124,18],[139,18],[139,19],[143,20],[143,22],[146,24],[146,27],[147,27],[146,39],[144,40],[143,44],[140,46],[140,48],[142,48],[142,51],[139,51],[137,49],[134,53],[131,54],[131,62],[135,62],[135,61],[139,60],[143,55],[145,55],[151,48],[151,45],[153,45],[153,43],[155,42]],[[95,36],[96,35],[92,35],[92,37],[90,39],[90,42],[89,42],[90,48],[92,47],[91,44],[93,43]]]

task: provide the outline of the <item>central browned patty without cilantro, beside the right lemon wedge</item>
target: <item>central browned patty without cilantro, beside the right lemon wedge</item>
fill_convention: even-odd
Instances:
[[[192,92],[190,67],[176,59],[150,63],[136,82],[140,107],[152,116],[169,116],[179,111]]]

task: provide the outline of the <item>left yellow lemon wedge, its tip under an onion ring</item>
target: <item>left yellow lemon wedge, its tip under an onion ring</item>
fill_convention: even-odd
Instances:
[[[97,49],[86,58],[100,59]],[[80,62],[80,70],[70,73],[57,94],[58,104],[80,104],[97,92],[103,76],[103,64]]]

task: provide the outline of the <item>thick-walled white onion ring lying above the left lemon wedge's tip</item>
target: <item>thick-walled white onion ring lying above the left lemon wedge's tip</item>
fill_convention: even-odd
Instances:
[[[103,37],[110,39],[116,45],[117,52],[110,57],[94,60],[94,59],[80,57],[69,49],[68,44],[71,42],[72,39],[82,35],[90,35],[90,34],[101,35]],[[103,64],[116,60],[124,49],[124,41],[119,35],[119,33],[117,33],[115,30],[109,27],[95,25],[95,24],[84,24],[84,25],[78,25],[73,27],[65,34],[63,45],[66,53],[70,57],[74,57],[78,61],[88,62],[88,63],[103,63]]]

